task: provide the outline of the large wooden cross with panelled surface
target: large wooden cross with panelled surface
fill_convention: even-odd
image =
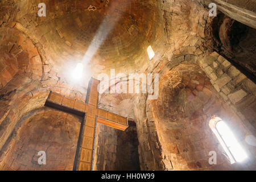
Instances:
[[[45,106],[83,117],[77,143],[74,171],[90,171],[93,168],[96,122],[122,131],[128,127],[127,118],[97,108],[99,83],[100,81],[91,78],[85,102],[50,92],[45,104]]]

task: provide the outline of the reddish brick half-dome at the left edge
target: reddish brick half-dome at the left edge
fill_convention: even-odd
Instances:
[[[40,80],[42,76],[42,61],[38,49],[29,38],[20,34],[14,28],[1,28],[2,42],[0,60],[0,85],[1,88],[17,74]]]

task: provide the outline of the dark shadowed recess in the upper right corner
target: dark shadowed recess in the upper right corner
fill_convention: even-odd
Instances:
[[[212,46],[225,59],[255,82],[256,30],[220,13],[207,27]]]

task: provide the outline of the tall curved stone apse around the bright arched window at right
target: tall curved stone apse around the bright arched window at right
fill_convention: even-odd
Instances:
[[[147,102],[147,117],[155,123],[163,148],[163,163],[171,161],[174,170],[240,168],[239,164],[231,166],[222,155],[223,151],[213,138],[208,121],[214,114],[225,118],[236,128],[243,143],[248,130],[243,127],[240,117],[222,100],[203,70],[184,62],[162,76],[159,86],[158,100]],[[164,111],[166,104],[168,106]],[[246,148],[249,152],[249,147]],[[221,160],[216,166],[208,163],[208,153],[212,150]]]

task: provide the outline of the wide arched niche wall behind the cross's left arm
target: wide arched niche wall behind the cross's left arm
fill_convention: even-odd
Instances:
[[[81,118],[42,107],[24,115],[3,148],[2,170],[72,170]],[[39,151],[46,164],[39,164]]]

